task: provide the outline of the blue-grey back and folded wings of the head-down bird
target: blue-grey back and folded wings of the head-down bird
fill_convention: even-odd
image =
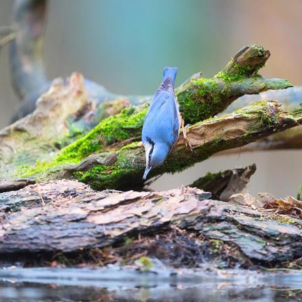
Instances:
[[[179,134],[178,103],[172,82],[167,78],[156,91],[143,125],[143,137],[168,143],[171,147]]]

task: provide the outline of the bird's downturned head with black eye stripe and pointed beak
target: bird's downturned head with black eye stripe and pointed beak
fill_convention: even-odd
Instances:
[[[153,141],[148,141],[144,143],[143,146],[146,151],[146,170],[143,174],[143,179],[146,180],[149,172],[165,161],[167,154],[170,152],[170,148],[166,143],[154,143]]]

